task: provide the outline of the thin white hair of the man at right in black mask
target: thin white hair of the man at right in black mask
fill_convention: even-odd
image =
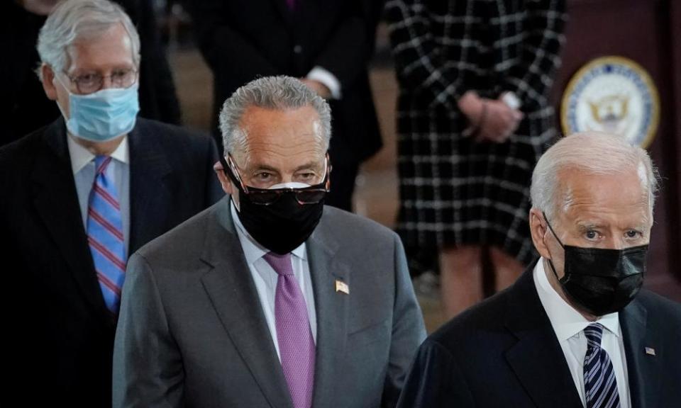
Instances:
[[[546,213],[549,220],[560,208],[558,173],[577,169],[587,174],[613,174],[636,171],[648,193],[650,215],[653,215],[658,174],[646,150],[633,146],[618,135],[582,132],[563,137],[550,147],[537,162],[532,173],[530,195],[532,206]],[[563,197],[564,199],[565,197]]]

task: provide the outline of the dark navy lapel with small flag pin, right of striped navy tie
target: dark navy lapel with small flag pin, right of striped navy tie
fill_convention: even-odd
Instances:
[[[637,300],[633,300],[619,313],[633,408],[657,407],[659,395],[663,342],[646,331],[646,315],[646,309]],[[646,347],[653,349],[655,355],[646,353]]]

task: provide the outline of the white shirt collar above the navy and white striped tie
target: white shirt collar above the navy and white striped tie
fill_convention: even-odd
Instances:
[[[544,310],[546,310],[546,314],[548,314],[548,319],[553,326],[553,331],[555,331],[558,341],[570,339],[575,334],[579,334],[589,324],[594,323],[585,319],[563,297],[560,297],[558,292],[551,286],[546,276],[543,258],[540,258],[534,267],[533,277],[539,299]],[[597,322],[611,331],[612,334],[618,337],[621,336],[618,312],[605,314]]]

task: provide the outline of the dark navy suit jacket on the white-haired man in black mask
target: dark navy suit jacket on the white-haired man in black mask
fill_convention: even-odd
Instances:
[[[426,339],[399,407],[582,407],[532,270]],[[681,305],[641,290],[619,315],[632,408],[678,407]]]

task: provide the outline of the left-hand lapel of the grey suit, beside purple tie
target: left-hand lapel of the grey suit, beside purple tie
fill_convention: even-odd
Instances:
[[[284,373],[262,305],[234,231],[229,199],[210,223],[201,259],[213,269],[201,278],[206,293],[270,407],[292,408]],[[247,390],[245,390],[247,392]]]

